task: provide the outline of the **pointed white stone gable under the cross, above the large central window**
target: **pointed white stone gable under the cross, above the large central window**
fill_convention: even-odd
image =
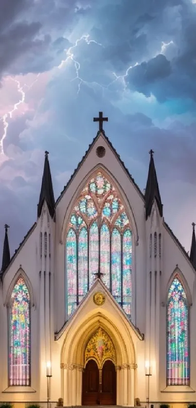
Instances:
[[[98,132],[97,137],[89,146],[89,150],[74,171],[60,197],[56,202],[57,223],[59,225],[59,241],[65,241],[65,230],[69,222],[70,207],[88,180],[98,172],[102,172],[119,190],[128,207],[134,228],[135,240],[138,240],[137,212],[144,212],[144,196],[125,168],[124,163],[108,141],[104,132]],[[138,214],[139,215],[139,214]],[[139,218],[141,217],[141,214]]]

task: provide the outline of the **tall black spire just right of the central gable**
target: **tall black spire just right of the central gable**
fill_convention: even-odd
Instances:
[[[157,181],[157,174],[155,170],[155,163],[153,159],[153,150],[149,151],[150,154],[150,164],[148,170],[148,179],[145,188],[145,212],[146,220],[151,213],[152,205],[154,200],[156,200],[160,216],[162,217],[162,203],[160,199],[159,185]]]

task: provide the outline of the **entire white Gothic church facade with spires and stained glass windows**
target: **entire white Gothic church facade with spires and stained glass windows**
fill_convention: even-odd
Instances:
[[[11,259],[5,226],[0,401],[195,401],[195,268],[195,225],[189,257],[153,151],[143,195],[101,129],[56,202],[46,152],[37,221]]]

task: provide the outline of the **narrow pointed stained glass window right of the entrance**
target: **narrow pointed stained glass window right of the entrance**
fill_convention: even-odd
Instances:
[[[189,308],[184,288],[175,276],[167,303],[167,385],[189,382]]]

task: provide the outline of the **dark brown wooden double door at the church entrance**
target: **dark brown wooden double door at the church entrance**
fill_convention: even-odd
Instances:
[[[116,370],[106,360],[102,370],[89,360],[83,372],[82,405],[116,405]]]

